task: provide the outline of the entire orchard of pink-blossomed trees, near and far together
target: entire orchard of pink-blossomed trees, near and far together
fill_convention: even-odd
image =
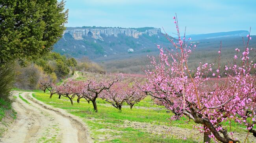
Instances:
[[[124,75],[105,74],[102,77],[91,76],[85,81],[67,80],[54,85],[49,80],[41,80],[43,91],[69,98],[73,105],[85,98],[98,112],[97,98],[110,103],[120,112],[124,104],[130,109],[152,96],[155,104],[163,105],[173,112],[172,120],[185,116],[197,125],[194,127],[204,134],[204,142],[237,143],[247,139],[249,134],[256,137],[256,64],[252,61],[249,47],[250,34],[243,39],[244,48],[234,49],[234,58],[222,66],[222,43],[217,63],[198,63],[196,69],[189,69],[189,56],[197,45],[191,38],[181,36],[177,16],[173,17],[178,39],[165,37],[172,43],[173,49],[165,50],[158,45],[158,58],[149,57],[151,65],[145,69],[145,77],[134,78]],[[241,51],[241,52],[240,52]],[[213,70],[213,66],[217,69]],[[138,80],[139,79],[139,80]],[[143,79],[143,80],[141,80]],[[231,121],[246,126],[244,139],[233,137]],[[230,123],[229,130],[223,123]]]

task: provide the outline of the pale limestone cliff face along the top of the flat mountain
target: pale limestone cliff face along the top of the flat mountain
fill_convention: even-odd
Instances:
[[[92,38],[103,40],[101,35],[118,37],[118,34],[125,34],[126,36],[139,38],[139,36],[142,34],[148,34],[149,36],[152,36],[152,35],[161,33],[161,29],[159,28],[148,29],[144,32],[137,31],[136,29],[130,29],[130,28],[72,29],[72,30],[65,30],[64,34],[66,33],[69,33],[75,40],[82,40],[83,36],[91,36]]]

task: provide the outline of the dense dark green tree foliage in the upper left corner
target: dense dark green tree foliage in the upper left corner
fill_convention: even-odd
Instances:
[[[57,0],[0,1],[0,64],[33,59],[52,50],[62,36],[68,11]]]

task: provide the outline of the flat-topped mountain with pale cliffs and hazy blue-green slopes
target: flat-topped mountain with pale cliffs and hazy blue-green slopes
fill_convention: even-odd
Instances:
[[[154,27],[67,27],[63,37],[54,45],[54,51],[96,60],[158,51],[158,44],[171,45],[161,29]]]

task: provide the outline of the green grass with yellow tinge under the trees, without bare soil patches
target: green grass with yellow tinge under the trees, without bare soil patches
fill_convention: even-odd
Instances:
[[[196,143],[191,139],[183,140],[176,139],[174,136],[166,134],[160,136],[158,134],[150,134],[143,129],[134,129],[128,127],[127,121],[148,123],[148,125],[170,125],[170,114],[166,112],[165,108],[160,107],[158,109],[150,109],[147,107],[159,107],[158,105],[152,105],[150,98],[145,98],[141,104],[137,106],[145,107],[145,109],[138,108],[130,110],[129,107],[123,107],[122,112],[109,105],[106,101],[97,99],[98,113],[93,110],[92,103],[88,104],[84,99],[80,100],[80,103],[76,103],[74,99],[74,105],[70,104],[69,99],[54,94],[52,99],[48,98],[48,93],[34,93],[33,97],[40,101],[52,105],[53,107],[67,110],[69,113],[79,116],[89,126],[91,136],[97,139],[99,136],[106,136],[106,143]],[[136,106],[136,105],[135,105]],[[185,123],[186,118],[171,122],[172,126],[192,129],[193,122]],[[102,129],[104,132],[102,132]],[[109,138],[111,136],[111,138]]]

